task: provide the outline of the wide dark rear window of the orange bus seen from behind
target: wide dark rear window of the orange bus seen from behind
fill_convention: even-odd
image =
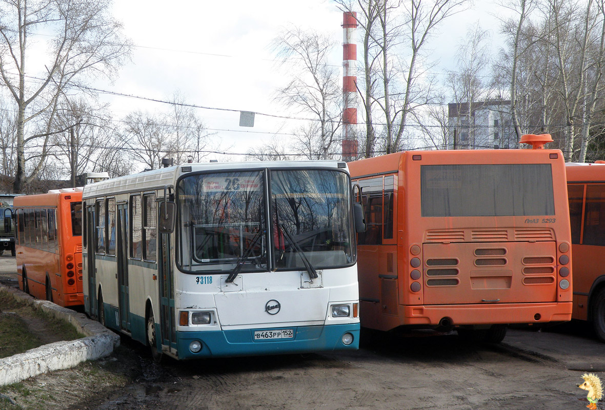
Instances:
[[[555,215],[551,164],[420,167],[422,216]]]

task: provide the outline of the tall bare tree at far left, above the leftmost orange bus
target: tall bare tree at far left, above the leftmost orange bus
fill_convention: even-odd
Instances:
[[[48,155],[48,126],[27,126],[45,114],[56,114],[57,99],[67,87],[81,85],[88,76],[108,76],[129,52],[121,26],[108,16],[108,0],[2,0],[0,2],[0,75],[16,102],[17,169],[13,190],[40,171]],[[30,44],[34,33],[52,33],[47,56],[30,71]],[[36,56],[36,60],[41,56]],[[15,74],[16,73],[16,74]],[[32,73],[32,74],[29,74]],[[28,109],[26,114],[26,109]],[[36,133],[36,131],[39,131]],[[40,155],[25,175],[25,146],[40,145]]]

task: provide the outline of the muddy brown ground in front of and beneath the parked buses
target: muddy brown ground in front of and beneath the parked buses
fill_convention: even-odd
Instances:
[[[107,359],[0,389],[0,408],[584,409],[586,392],[576,387],[581,374],[605,377],[605,345],[581,324],[509,331],[515,343],[500,345],[469,344],[455,333],[362,336],[362,348],[350,353],[165,359],[161,365],[123,337]],[[537,336],[546,354],[532,348]],[[549,344],[556,347],[552,354]],[[571,365],[570,355],[585,360]]]

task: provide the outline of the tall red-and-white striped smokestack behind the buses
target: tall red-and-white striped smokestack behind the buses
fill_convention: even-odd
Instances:
[[[357,13],[345,11],[342,15],[342,94],[344,109],[342,111],[342,160],[352,161],[357,158],[357,77],[355,62],[357,45],[352,43],[353,33],[357,28]]]

